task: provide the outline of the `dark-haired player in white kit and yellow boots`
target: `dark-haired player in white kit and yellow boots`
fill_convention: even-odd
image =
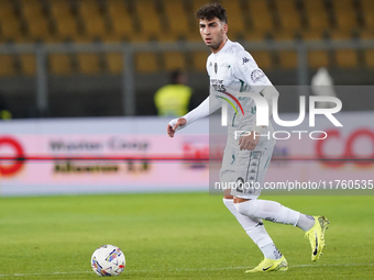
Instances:
[[[222,98],[228,98],[226,90],[229,87],[233,89],[231,92],[233,96],[238,96],[242,91],[261,94],[266,99],[270,112],[272,112],[271,100],[278,97],[277,90],[258,68],[250,53],[239,43],[228,38],[227,13],[222,5],[208,3],[196,12],[196,16],[199,20],[202,41],[212,52],[207,60],[207,70],[210,86],[215,90],[199,107],[183,117],[169,122],[167,125],[169,137],[174,137],[178,130],[218,110],[221,102],[226,102],[222,101]],[[229,111],[229,135],[220,170],[220,181],[239,182],[238,186],[240,182],[242,186],[245,182],[262,186],[275,141],[260,135],[272,132],[273,127],[271,125],[256,126],[253,99],[242,98],[240,102],[245,114],[242,115],[234,110]],[[251,134],[246,133],[235,139],[233,135],[235,130],[251,131]],[[324,231],[328,220],[323,216],[299,213],[275,201],[260,200],[257,199],[260,192],[261,189],[253,188],[224,191],[224,205],[264,255],[264,259],[257,267],[245,272],[285,271],[288,269],[286,258],[268,236],[263,220],[301,228],[311,245],[311,259],[317,260],[324,247]]]

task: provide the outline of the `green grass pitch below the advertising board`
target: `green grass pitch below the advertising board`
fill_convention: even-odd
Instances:
[[[117,279],[374,279],[374,197],[262,197],[331,224],[317,261],[304,233],[265,222],[287,272],[244,275],[262,254],[207,193],[0,199],[0,279],[99,279],[92,251],[119,246]]]

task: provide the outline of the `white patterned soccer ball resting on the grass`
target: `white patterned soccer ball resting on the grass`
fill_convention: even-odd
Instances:
[[[124,269],[124,255],[113,245],[102,245],[91,257],[91,267],[98,276],[119,276]]]

